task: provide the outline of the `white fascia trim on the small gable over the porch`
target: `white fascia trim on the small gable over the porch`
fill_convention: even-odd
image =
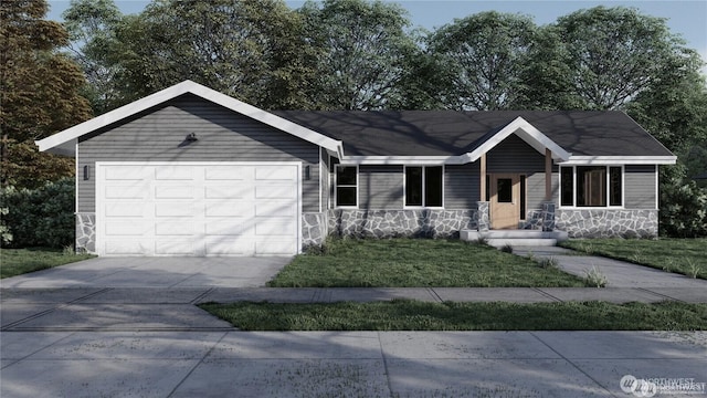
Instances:
[[[542,134],[534,125],[528,123],[523,117],[518,116],[513,122],[507,124],[506,127],[502,128],[500,132],[496,133],[493,137],[482,144],[478,148],[466,155],[463,155],[463,157],[466,159],[465,163],[476,161],[483,154],[488,153],[511,134],[516,134],[518,137],[520,137],[520,139],[526,142],[535,150],[542,155],[545,155],[546,148],[550,149],[552,151],[552,158],[557,161],[566,161],[571,156],[570,153],[562,149],[562,147],[557,145],[552,139],[548,138],[548,136]]]

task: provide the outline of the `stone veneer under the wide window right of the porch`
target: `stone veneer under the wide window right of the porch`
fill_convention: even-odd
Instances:
[[[570,238],[656,238],[657,210],[557,209],[555,227]]]

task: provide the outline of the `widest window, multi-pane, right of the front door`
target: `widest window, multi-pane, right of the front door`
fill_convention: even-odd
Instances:
[[[623,205],[623,169],[620,166],[560,168],[560,205],[619,207]]]

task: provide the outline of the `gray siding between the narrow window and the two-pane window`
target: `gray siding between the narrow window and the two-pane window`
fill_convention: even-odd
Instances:
[[[402,166],[359,166],[359,209],[402,209],[403,180]]]

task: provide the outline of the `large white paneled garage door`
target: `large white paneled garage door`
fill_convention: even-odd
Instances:
[[[299,165],[96,165],[99,255],[294,254]]]

